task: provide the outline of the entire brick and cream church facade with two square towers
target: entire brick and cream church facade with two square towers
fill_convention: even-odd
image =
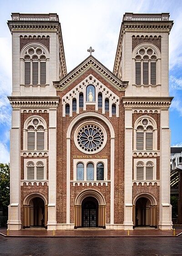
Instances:
[[[113,72],[67,74],[57,14],[12,13],[9,229],[172,229],[168,13],[125,13]]]

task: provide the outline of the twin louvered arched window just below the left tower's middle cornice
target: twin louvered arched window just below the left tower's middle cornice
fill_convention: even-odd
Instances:
[[[45,150],[45,128],[39,118],[32,118],[30,120],[26,133],[27,150]]]

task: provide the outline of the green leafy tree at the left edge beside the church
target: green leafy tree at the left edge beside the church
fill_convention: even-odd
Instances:
[[[0,163],[0,207],[3,208],[3,215],[8,213],[10,204],[10,163]]]

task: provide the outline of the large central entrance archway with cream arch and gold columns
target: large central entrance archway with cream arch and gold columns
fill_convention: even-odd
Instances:
[[[106,228],[106,203],[100,192],[87,189],[75,200],[75,229]]]

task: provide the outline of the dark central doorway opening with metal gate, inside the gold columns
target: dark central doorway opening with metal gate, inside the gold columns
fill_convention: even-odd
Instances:
[[[98,201],[94,197],[86,197],[81,204],[82,222],[84,228],[98,227]]]

